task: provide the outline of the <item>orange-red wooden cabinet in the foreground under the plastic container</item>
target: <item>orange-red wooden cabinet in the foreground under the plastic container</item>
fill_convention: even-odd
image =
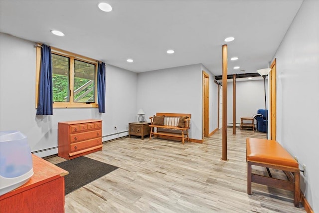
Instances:
[[[28,182],[0,196],[1,213],[64,213],[67,171],[32,155],[34,175]]]

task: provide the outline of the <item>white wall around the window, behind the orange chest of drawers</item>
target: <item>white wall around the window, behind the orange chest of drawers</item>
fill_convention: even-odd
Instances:
[[[60,121],[102,119],[102,133],[128,130],[136,118],[137,74],[107,65],[106,113],[98,108],[53,109],[53,115],[36,116],[34,42],[0,33],[0,130],[18,130],[28,137],[31,151],[44,157],[57,154],[57,123]],[[103,141],[128,135],[104,137]],[[53,148],[53,149],[50,149]]]

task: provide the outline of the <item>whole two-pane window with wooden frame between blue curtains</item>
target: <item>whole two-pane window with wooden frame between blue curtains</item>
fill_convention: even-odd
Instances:
[[[36,56],[36,106],[41,47]],[[84,56],[51,47],[53,108],[98,107],[98,62]]]

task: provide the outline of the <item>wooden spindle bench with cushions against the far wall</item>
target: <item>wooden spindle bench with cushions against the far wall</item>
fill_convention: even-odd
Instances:
[[[187,138],[187,141],[189,141],[188,129],[190,116],[191,114],[184,113],[156,113],[154,117],[150,117],[150,139],[152,139],[152,135],[177,137],[181,138],[182,144],[184,145],[184,138]]]

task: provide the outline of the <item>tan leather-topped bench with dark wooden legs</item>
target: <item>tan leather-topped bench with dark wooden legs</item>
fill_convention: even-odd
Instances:
[[[262,184],[274,188],[294,192],[294,205],[299,207],[300,195],[300,170],[298,162],[275,140],[247,138],[246,139],[247,194],[252,194],[251,183]],[[252,174],[252,165],[283,170],[287,180]]]

